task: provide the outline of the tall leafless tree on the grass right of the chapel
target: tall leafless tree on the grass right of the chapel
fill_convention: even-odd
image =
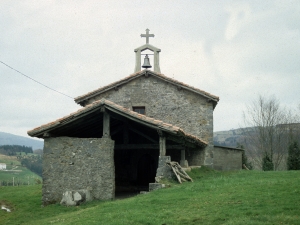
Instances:
[[[274,96],[259,96],[243,114],[245,145],[254,166],[261,168],[264,157],[271,159],[274,170],[285,164],[296,118]],[[292,132],[292,133],[291,133]],[[283,163],[284,161],[284,163]]]

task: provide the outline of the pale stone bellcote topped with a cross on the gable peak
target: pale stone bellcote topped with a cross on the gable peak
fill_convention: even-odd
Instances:
[[[159,52],[161,51],[159,48],[156,48],[149,44],[149,37],[154,37],[154,34],[149,34],[149,29],[146,29],[146,34],[141,34],[141,37],[146,38],[146,44],[142,45],[141,47],[138,47],[134,49],[135,52],[135,69],[134,72],[140,72],[142,70],[141,66],[141,57],[142,52],[145,50],[150,50],[154,54],[154,67],[153,71],[160,73],[160,67],[159,67]]]

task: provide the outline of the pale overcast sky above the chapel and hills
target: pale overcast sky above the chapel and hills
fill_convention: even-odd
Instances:
[[[214,131],[240,128],[259,95],[300,104],[300,1],[0,0],[0,131],[27,131],[80,108],[72,98],[134,72],[134,49],[161,49],[161,73],[213,95]],[[58,92],[34,82],[28,77]],[[152,62],[153,65],[153,62]]]

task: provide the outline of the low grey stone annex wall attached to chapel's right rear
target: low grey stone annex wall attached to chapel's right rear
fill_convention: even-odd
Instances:
[[[214,166],[216,170],[242,169],[243,150],[214,146]]]

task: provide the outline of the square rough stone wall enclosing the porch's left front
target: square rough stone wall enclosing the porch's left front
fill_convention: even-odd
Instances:
[[[60,202],[65,191],[82,189],[89,190],[94,199],[114,198],[114,141],[109,138],[46,138],[43,204]]]

